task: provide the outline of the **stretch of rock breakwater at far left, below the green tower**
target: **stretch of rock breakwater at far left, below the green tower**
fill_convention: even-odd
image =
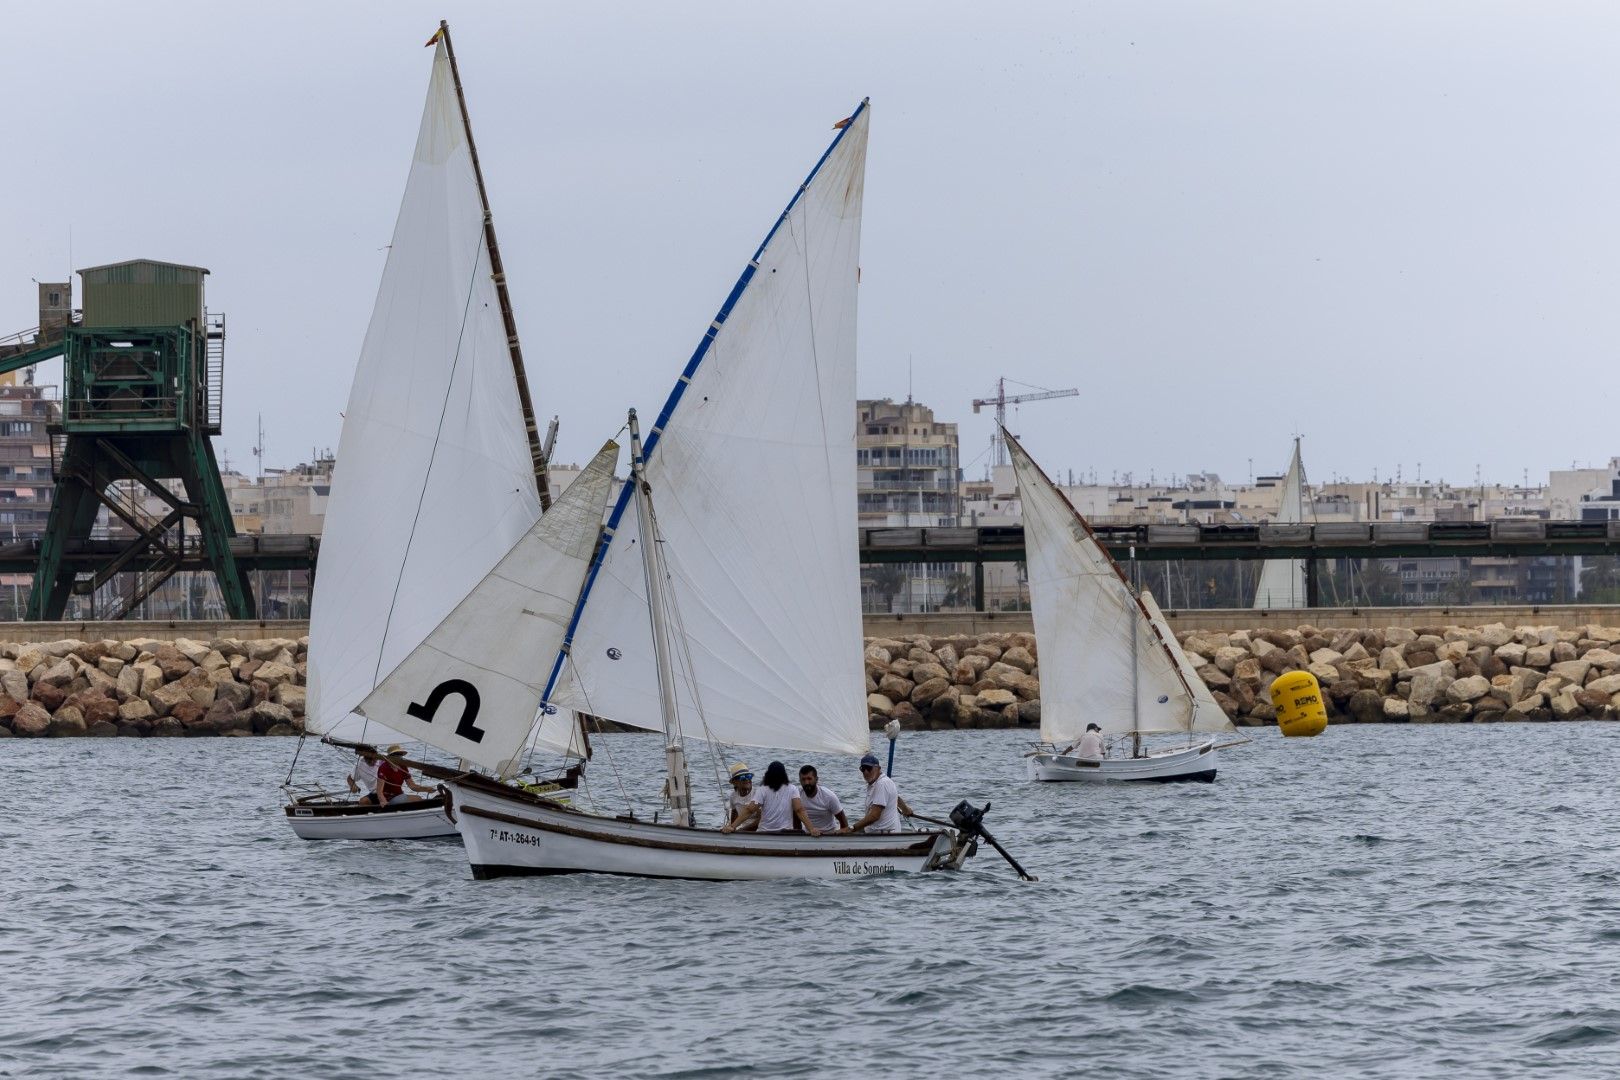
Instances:
[[[0,738],[296,735],[309,638],[0,643]]]

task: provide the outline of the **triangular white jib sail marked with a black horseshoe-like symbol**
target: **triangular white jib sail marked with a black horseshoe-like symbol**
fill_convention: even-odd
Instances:
[[[608,442],[360,712],[502,776],[522,764],[612,492]]]

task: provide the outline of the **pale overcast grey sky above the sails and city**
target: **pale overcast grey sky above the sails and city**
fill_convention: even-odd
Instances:
[[[204,266],[222,455],[335,447],[439,18],[557,461],[656,413],[867,96],[859,390],[957,421],[970,478],[1001,376],[1079,389],[1009,423],[1077,479],[1620,455],[1604,3],[19,6],[0,335],[31,279]]]

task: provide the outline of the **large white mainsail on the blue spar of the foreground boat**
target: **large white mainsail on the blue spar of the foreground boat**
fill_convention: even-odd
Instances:
[[[867,120],[862,105],[766,236],[646,440],[688,738],[870,745],[855,525]],[[651,727],[659,691],[629,497],[552,703]]]

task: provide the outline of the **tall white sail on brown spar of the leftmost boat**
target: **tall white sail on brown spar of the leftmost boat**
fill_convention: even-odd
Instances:
[[[343,413],[329,507],[309,617],[306,725],[358,737],[353,708],[539,517],[442,42]]]

